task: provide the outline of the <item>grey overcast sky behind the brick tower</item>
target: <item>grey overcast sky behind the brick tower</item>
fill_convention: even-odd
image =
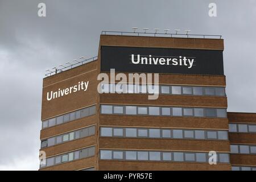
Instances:
[[[208,15],[210,2],[217,17]],[[45,71],[96,56],[102,30],[222,35],[228,111],[256,112],[255,17],[256,0],[0,0],[0,170],[38,170]]]

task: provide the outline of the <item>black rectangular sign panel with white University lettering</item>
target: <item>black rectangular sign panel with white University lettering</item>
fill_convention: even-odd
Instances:
[[[221,50],[101,46],[101,71],[224,75]]]

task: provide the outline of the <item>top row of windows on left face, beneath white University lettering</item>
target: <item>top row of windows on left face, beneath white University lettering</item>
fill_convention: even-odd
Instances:
[[[89,115],[96,114],[96,106],[90,106],[86,107],[84,109],[73,111],[72,113],[60,115],[55,118],[47,119],[46,121],[43,121],[42,129],[45,129],[47,127],[60,125],[61,123],[73,121],[75,119],[84,118]]]

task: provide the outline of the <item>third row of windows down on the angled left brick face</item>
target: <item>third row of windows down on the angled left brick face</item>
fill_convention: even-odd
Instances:
[[[67,154],[53,156],[46,159],[46,164],[40,164],[40,168],[54,166],[61,163],[71,162],[73,160],[89,158],[90,156],[95,155],[95,146],[83,148],[81,150],[69,152]]]

